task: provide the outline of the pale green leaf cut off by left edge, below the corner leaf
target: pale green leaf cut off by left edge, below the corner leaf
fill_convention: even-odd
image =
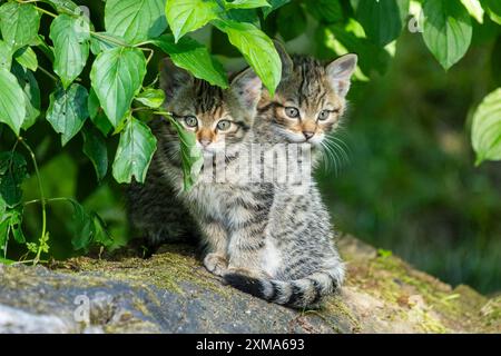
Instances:
[[[7,123],[19,136],[26,116],[26,99],[16,77],[0,68],[0,122]]]

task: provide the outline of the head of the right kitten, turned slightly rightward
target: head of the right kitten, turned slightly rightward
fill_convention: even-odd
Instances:
[[[274,98],[263,95],[259,111],[273,110],[267,115],[272,128],[286,141],[320,146],[338,127],[356,56],[344,56],[327,66],[312,58],[284,56],[284,79]]]

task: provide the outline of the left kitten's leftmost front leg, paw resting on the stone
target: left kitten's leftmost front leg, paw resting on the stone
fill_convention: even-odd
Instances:
[[[224,227],[216,221],[205,221],[202,224],[205,238],[204,266],[208,271],[217,276],[223,276],[228,267],[227,245],[228,237]]]

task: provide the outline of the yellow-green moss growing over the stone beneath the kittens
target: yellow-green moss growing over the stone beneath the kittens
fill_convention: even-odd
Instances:
[[[347,279],[342,293],[328,298],[320,309],[301,313],[257,301],[223,286],[185,246],[166,246],[148,259],[80,257],[52,264],[51,268],[62,271],[62,276],[42,267],[0,267],[0,287],[12,293],[31,289],[40,294],[45,285],[56,290],[85,290],[107,288],[110,280],[125,281],[131,288],[131,297],[128,297],[131,308],[120,308],[120,314],[105,305],[102,313],[96,315],[96,327],[112,333],[160,330],[161,326],[155,324],[156,313],[171,313],[164,307],[163,290],[169,291],[165,296],[179,295],[180,310],[171,316],[176,325],[193,323],[189,319],[193,316],[186,314],[189,309],[202,328],[210,329],[214,320],[220,320],[225,327],[227,323],[238,320],[240,325],[248,322],[261,327],[275,327],[278,323],[288,325],[288,330],[307,333],[501,332],[501,296],[489,299],[466,286],[453,289],[389,253],[377,254],[375,249],[353,241],[350,245],[345,240],[341,247],[342,253],[348,251],[343,253],[347,260]],[[2,275],[7,269],[9,271]],[[9,305],[38,310],[38,299],[32,294],[17,295],[19,297]],[[9,295],[3,297],[4,300],[12,299]],[[225,299],[224,307],[213,308],[215,300],[219,305],[220,297]],[[53,298],[56,304],[62,305],[67,295],[56,293]],[[191,304],[194,298],[200,300]],[[243,308],[255,310],[254,319],[246,320],[247,312],[243,313]],[[210,312],[204,314],[205,310]],[[110,319],[114,322],[108,323]]]

